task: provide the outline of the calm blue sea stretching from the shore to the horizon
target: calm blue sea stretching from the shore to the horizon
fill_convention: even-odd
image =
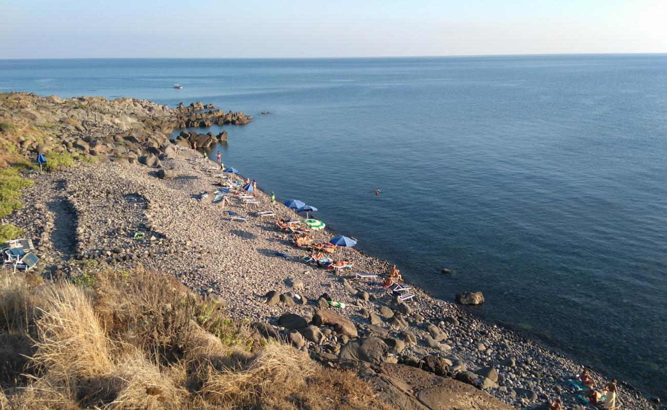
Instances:
[[[219,149],[262,189],[437,297],[482,291],[480,315],[667,389],[667,55],[0,61],[0,90],[255,115]]]

